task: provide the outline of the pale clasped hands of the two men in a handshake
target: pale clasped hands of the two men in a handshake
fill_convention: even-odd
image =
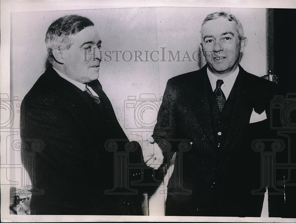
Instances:
[[[155,170],[163,163],[163,153],[152,137],[143,142],[142,153],[146,165]]]

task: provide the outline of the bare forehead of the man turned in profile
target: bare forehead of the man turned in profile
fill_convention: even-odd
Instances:
[[[73,44],[83,44],[85,42],[94,42],[97,44],[99,42],[99,32],[94,26],[88,26],[82,29],[75,35],[70,35],[70,40]]]

